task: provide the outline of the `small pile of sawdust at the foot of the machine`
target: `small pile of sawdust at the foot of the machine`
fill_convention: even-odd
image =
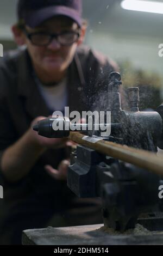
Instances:
[[[98,229],[98,231],[104,231],[110,235],[152,235],[152,231],[149,231],[140,224],[136,224],[134,229],[128,229],[123,233],[120,231],[115,231],[112,228],[106,228],[104,226]]]

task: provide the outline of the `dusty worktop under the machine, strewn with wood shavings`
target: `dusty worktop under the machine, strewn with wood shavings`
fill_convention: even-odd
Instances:
[[[23,245],[163,245],[163,232],[150,232],[140,224],[130,233],[112,233],[103,224],[23,231]]]

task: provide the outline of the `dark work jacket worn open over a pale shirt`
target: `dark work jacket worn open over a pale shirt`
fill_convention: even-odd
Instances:
[[[115,69],[114,64],[102,54],[87,47],[78,48],[68,68],[67,92],[70,112],[91,109],[95,103],[94,96],[104,89],[103,85],[107,84],[109,73]],[[29,129],[34,118],[48,117],[49,114],[33,78],[32,63],[27,50],[8,53],[0,63],[1,157],[4,150]],[[69,200],[75,196],[68,190],[66,182],[52,179],[43,168],[45,164],[57,168],[65,157],[65,149],[47,150],[29,174],[15,184],[10,184],[0,170],[0,185],[4,188],[4,199],[0,199],[0,218],[14,214],[22,202],[29,202],[35,195],[42,200],[52,198],[58,211],[63,204],[68,205]]]

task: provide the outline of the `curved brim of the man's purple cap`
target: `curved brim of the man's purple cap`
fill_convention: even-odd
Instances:
[[[40,10],[30,11],[30,13],[26,14],[24,20],[29,27],[37,27],[42,22],[51,19],[52,17],[56,16],[66,16],[77,22],[77,24],[81,27],[82,26],[82,14],[79,14],[76,10],[71,8],[58,5],[58,6],[50,6]]]

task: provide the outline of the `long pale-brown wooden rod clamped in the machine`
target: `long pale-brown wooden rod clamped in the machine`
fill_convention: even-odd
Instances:
[[[163,176],[163,160],[155,153],[103,140],[97,142],[95,140],[94,142],[91,142],[91,137],[87,138],[79,132],[70,132],[69,138],[73,142],[91,149],[95,149],[99,153],[134,164],[137,167]]]

